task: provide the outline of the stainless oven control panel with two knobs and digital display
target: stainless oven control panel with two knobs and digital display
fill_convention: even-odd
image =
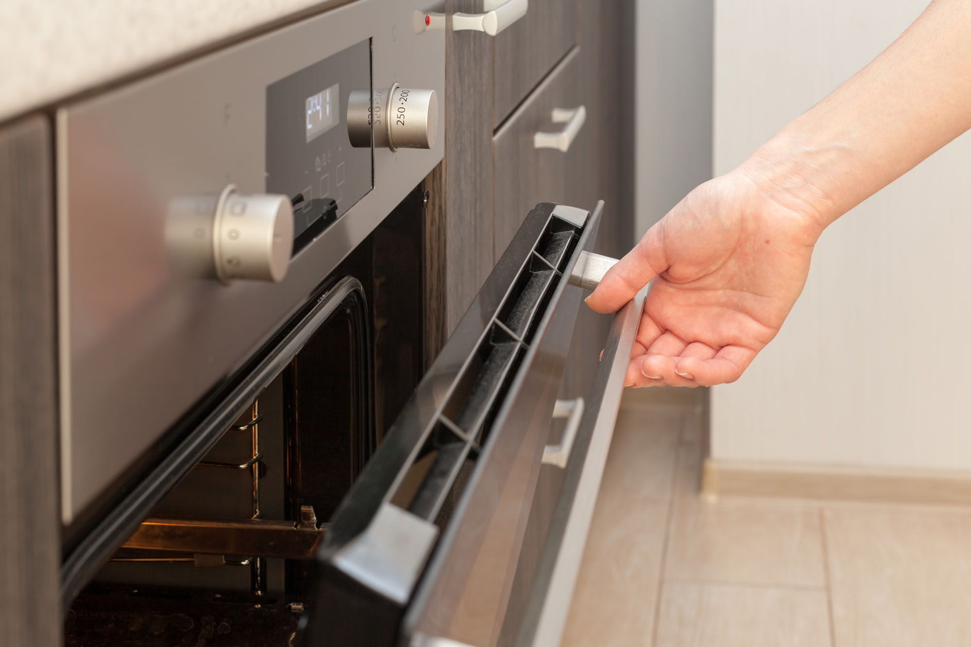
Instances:
[[[65,524],[187,433],[442,160],[426,3],[324,2],[57,107]]]

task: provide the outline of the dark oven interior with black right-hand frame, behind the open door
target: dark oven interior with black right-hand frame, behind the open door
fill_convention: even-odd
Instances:
[[[289,644],[327,522],[423,373],[422,223],[417,187],[326,278],[320,298],[351,288],[74,599],[66,645]]]

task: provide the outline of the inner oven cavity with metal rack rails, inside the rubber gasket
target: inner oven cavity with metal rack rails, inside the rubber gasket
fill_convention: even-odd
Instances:
[[[306,594],[325,524],[377,442],[360,281],[337,281],[298,327],[307,334],[283,354],[283,370],[72,604],[69,641],[109,639],[125,625],[116,637],[148,638],[163,603],[186,627],[221,617],[229,639],[288,640],[297,616],[279,600]],[[261,598],[262,617],[245,612]],[[178,642],[172,629],[161,628],[159,644]]]

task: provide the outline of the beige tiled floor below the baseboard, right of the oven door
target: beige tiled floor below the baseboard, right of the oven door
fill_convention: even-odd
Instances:
[[[624,395],[564,647],[971,647],[971,509],[705,500],[702,400]]]

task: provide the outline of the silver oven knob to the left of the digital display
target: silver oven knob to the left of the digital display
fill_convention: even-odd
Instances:
[[[213,220],[216,276],[283,281],[293,249],[293,210],[285,195],[244,195],[232,185],[219,196]]]

